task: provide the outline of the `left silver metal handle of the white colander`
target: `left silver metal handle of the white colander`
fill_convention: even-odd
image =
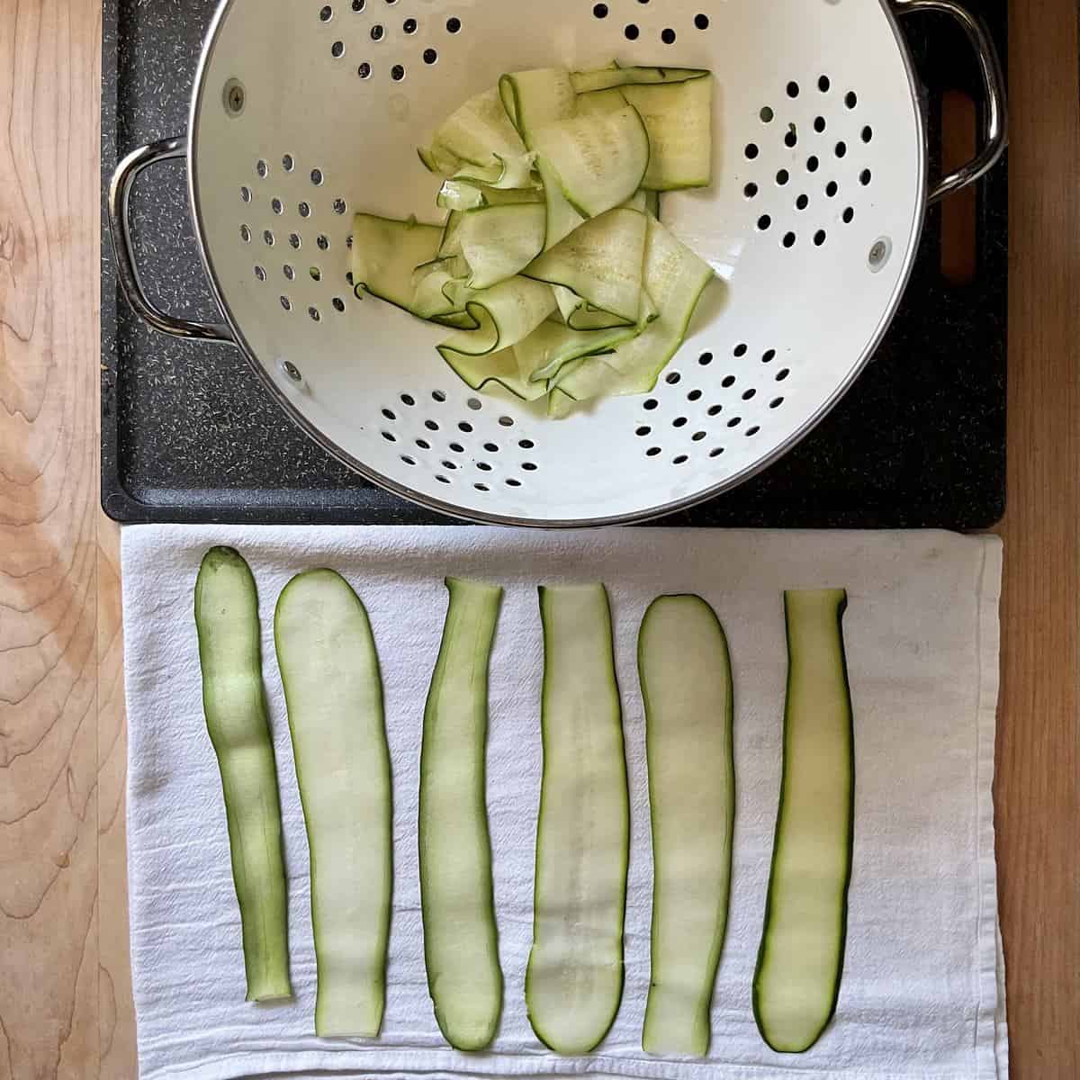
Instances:
[[[109,232],[112,235],[112,252],[117,260],[120,287],[136,314],[140,315],[156,330],[172,334],[173,337],[195,341],[225,341],[233,343],[232,332],[224,323],[198,323],[189,319],[178,319],[166,314],[143,288],[135,251],[132,246],[129,208],[132,188],[139,173],[162,161],[187,159],[187,139],[168,138],[132,151],[117,166],[109,185]]]

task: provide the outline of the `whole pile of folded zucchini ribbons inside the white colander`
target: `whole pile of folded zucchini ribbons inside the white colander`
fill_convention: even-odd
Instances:
[[[475,390],[565,417],[649,392],[712,268],[660,222],[660,192],[712,181],[713,80],[689,68],[505,75],[419,150],[443,225],[357,214],[357,293],[453,333]]]

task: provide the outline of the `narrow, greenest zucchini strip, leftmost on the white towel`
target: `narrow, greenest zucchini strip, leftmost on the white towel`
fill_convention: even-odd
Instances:
[[[281,802],[262,689],[255,578],[231,548],[206,553],[195,582],[206,730],[221,773],[247,1000],[292,997]]]

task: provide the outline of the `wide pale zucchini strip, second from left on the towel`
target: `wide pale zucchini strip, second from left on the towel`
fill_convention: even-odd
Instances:
[[[282,591],[278,666],[311,856],[315,1034],[375,1038],[386,1001],[392,791],[382,680],[364,605],[333,570]]]

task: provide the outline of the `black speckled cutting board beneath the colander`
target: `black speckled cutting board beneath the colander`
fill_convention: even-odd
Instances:
[[[1005,0],[969,0],[1007,54]],[[187,129],[216,0],[105,0],[103,191],[118,151]],[[943,90],[978,99],[970,48],[940,17],[905,26],[927,84],[932,158]],[[936,160],[931,168],[936,173]],[[986,528],[1004,511],[1007,170],[980,186],[978,272],[942,279],[932,211],[875,362],[816,431],[762,475],[672,524]],[[136,192],[139,262],[165,310],[213,318],[179,166]],[[103,230],[107,224],[103,213]],[[122,522],[434,523],[284,420],[241,354],[151,333],[102,255],[102,502]]]

